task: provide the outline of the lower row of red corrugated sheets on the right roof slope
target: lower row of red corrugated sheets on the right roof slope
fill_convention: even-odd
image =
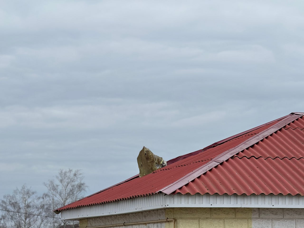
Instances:
[[[304,195],[304,158],[230,158],[172,194]]]

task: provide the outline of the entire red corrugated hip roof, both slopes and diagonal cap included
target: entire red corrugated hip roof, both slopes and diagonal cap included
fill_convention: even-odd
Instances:
[[[55,212],[158,192],[304,195],[303,129],[302,113],[292,113],[172,159],[151,174],[134,176]]]

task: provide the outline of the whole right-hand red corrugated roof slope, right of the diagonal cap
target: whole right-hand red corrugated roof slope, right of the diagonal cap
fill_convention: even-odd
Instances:
[[[303,129],[301,117],[172,194],[304,195]]]

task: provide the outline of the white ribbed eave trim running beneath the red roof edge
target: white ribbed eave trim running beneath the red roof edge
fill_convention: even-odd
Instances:
[[[61,219],[82,219],[118,215],[173,207],[251,207],[251,208],[304,208],[301,195],[165,195],[159,193],[146,197],[121,200],[95,206],[61,211]]]

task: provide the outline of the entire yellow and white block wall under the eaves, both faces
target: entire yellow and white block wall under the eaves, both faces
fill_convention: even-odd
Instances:
[[[116,226],[118,228],[304,228],[304,209],[282,208],[168,208],[82,219],[80,227],[159,219],[173,222]]]

